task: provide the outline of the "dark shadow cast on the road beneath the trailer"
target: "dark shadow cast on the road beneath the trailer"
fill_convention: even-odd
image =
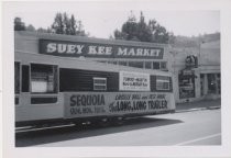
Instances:
[[[15,147],[26,147],[47,143],[57,143],[63,140],[94,137],[99,135],[122,133],[142,128],[152,128],[183,123],[179,120],[135,117],[124,122],[121,126],[69,126],[52,128],[45,131],[34,131],[29,133],[19,133],[15,135]]]

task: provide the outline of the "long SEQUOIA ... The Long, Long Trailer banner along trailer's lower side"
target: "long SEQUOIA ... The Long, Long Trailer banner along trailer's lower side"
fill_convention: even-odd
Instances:
[[[153,92],[66,92],[65,117],[157,113],[170,110],[170,95]]]

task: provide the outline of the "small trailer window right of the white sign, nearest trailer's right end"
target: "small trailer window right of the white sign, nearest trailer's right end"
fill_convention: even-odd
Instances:
[[[170,90],[170,78],[164,76],[156,77],[156,90]]]

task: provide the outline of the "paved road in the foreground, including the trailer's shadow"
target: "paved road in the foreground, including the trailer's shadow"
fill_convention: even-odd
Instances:
[[[16,147],[221,145],[221,111],[128,120],[122,126],[63,127],[16,134]]]

